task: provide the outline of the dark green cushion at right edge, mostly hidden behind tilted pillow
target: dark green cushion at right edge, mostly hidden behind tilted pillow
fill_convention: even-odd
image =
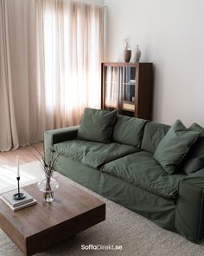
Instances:
[[[180,168],[185,174],[194,173],[204,167],[204,128],[194,123],[188,130],[197,131],[200,135],[182,161]]]

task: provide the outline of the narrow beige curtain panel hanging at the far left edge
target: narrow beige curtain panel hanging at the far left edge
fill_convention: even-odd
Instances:
[[[0,150],[19,146],[13,102],[7,3],[0,0]]]

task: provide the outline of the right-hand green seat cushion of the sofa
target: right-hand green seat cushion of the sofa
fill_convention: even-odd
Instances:
[[[177,196],[179,181],[187,176],[182,173],[168,175],[153,155],[145,151],[111,161],[101,167],[101,170],[150,193],[172,199]]]

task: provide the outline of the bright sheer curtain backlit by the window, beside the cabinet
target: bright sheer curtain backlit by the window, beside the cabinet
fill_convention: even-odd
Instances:
[[[38,84],[47,128],[78,124],[86,106],[100,108],[104,8],[37,0]]]

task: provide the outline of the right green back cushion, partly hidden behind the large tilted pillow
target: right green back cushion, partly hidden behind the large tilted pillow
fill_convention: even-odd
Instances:
[[[154,121],[148,122],[144,128],[141,148],[144,151],[154,154],[159,142],[166,135],[169,128],[169,125],[163,123],[157,123]]]

